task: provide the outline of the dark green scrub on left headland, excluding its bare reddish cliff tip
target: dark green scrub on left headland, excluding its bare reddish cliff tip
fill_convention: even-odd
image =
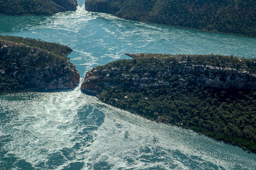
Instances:
[[[52,64],[64,64],[71,51],[58,43],[0,35],[0,91],[36,88],[31,78]]]

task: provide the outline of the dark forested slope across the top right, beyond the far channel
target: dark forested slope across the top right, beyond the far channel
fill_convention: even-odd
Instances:
[[[255,0],[86,0],[120,18],[256,37]]]

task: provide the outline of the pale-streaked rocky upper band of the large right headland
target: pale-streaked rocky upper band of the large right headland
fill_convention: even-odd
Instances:
[[[192,83],[210,88],[256,90],[256,59],[129,55],[134,59],[112,62],[87,72],[81,89],[98,93],[114,86],[159,89]]]

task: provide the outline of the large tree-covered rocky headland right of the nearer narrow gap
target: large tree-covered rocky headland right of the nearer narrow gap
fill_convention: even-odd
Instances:
[[[126,54],[86,73],[82,92],[147,119],[256,152],[256,59]]]

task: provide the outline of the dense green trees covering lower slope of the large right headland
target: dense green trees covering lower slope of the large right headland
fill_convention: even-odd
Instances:
[[[256,152],[256,92],[191,84],[156,90],[107,88],[99,97],[147,119],[190,128]]]

